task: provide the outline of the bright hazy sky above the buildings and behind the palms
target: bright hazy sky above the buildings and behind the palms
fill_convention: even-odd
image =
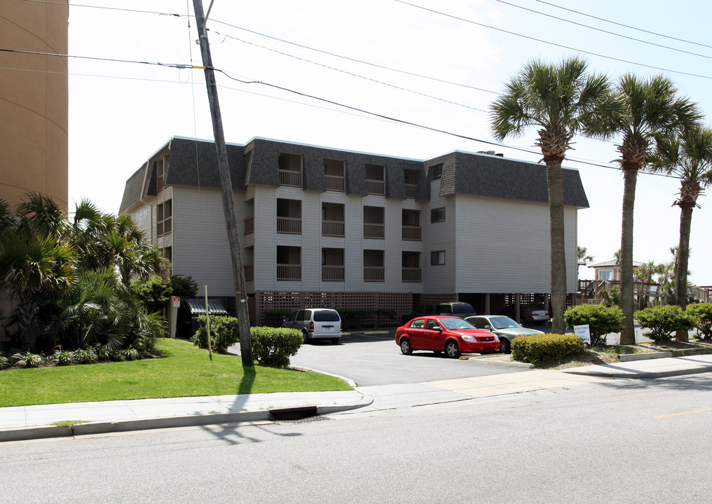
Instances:
[[[72,3],[70,55],[201,65],[192,0]],[[496,143],[488,107],[526,62],[577,55],[612,80],[664,75],[709,125],[711,17],[712,4],[692,0],[214,0],[206,26],[229,143],[259,136],[412,159],[493,150],[539,162],[533,128],[485,143]],[[203,70],[70,58],[69,72],[70,210],[88,198],[117,213],[127,178],[172,136],[214,138]],[[564,166],[580,171],[590,203],[578,245],[604,262],[620,247],[619,139],[574,141]],[[639,176],[634,260],[671,260],[678,191],[674,178]],[[712,200],[698,203],[690,279],[712,285]]]

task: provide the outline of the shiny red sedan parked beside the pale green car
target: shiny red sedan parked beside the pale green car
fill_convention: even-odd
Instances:
[[[499,351],[499,339],[459,317],[428,316],[413,318],[396,330],[396,344],[401,352],[410,355],[413,350],[445,352],[456,359],[461,353]]]

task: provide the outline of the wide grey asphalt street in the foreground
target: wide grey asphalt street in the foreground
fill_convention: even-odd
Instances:
[[[394,345],[395,346],[395,345]],[[710,503],[712,374],[4,443],[23,503]]]

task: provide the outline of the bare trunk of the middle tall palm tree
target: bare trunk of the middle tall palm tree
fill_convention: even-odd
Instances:
[[[633,210],[635,207],[635,186],[637,170],[624,171],[623,223],[621,232],[621,310],[623,311],[623,332],[621,345],[635,344],[633,320]]]

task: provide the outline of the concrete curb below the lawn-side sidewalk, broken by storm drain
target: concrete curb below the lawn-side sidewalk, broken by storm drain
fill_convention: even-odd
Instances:
[[[359,409],[373,404],[372,395],[362,395],[362,400],[351,404],[333,404],[317,406],[317,415],[332,414]],[[92,436],[96,434],[112,434],[115,432],[144,431],[150,429],[169,429],[174,427],[199,427],[201,425],[232,424],[236,422],[266,422],[270,420],[270,409],[256,412],[229,412],[212,414],[195,414],[182,417],[159,417],[118,422],[90,422],[76,424],[73,427],[56,427],[42,425],[37,427],[18,427],[0,430],[0,442],[28,441],[31,439],[51,439],[70,436]]]

